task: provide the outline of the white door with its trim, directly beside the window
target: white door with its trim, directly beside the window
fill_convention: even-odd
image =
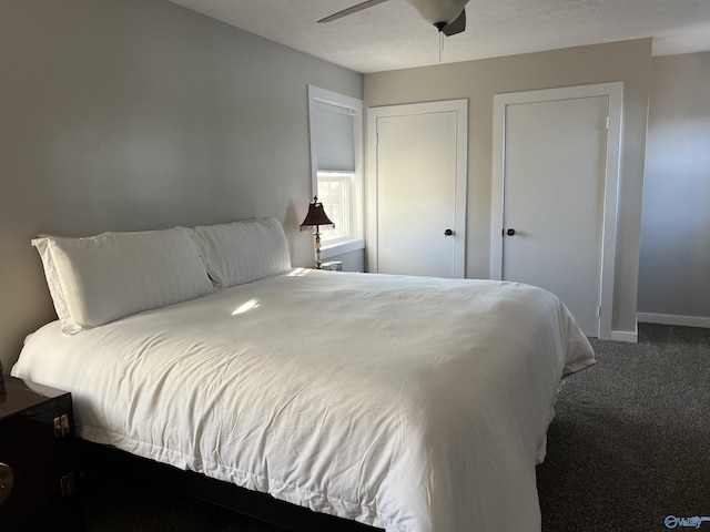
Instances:
[[[371,272],[463,277],[466,102],[369,110]],[[371,173],[371,175],[373,175]],[[373,196],[371,196],[373,197]]]

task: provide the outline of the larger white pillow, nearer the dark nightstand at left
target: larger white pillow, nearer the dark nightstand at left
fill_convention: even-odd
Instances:
[[[83,238],[41,236],[32,245],[67,334],[214,290],[184,227]]]

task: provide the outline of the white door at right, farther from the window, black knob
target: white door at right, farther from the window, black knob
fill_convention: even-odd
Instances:
[[[501,116],[499,278],[550,290],[598,337],[609,95],[532,100]]]

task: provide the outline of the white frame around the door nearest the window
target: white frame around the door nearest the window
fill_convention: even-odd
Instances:
[[[377,168],[377,120],[381,117],[407,116],[432,113],[456,113],[456,184],[454,198],[454,277],[466,276],[466,205],[468,184],[468,100],[407,103],[367,108],[367,228],[366,264],[368,272],[378,272],[378,168]]]

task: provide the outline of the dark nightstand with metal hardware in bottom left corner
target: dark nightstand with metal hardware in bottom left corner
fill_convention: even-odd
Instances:
[[[4,377],[0,383],[0,528],[81,530],[71,395]]]

